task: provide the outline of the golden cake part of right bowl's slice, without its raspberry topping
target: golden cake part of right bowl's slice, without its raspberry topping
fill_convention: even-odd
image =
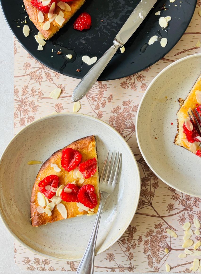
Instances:
[[[174,138],[174,144],[179,145],[187,150],[189,150],[189,147],[183,141],[183,139],[186,139],[186,135],[183,132],[183,123],[185,119],[188,117],[189,108],[191,108],[194,112],[195,108],[198,106],[195,92],[196,90],[200,90],[200,83],[201,83],[201,76],[198,77],[193,88],[187,95],[186,99],[183,100],[179,98],[178,100],[181,107],[179,111],[177,112],[177,134]],[[198,147],[198,149],[200,149],[200,147]]]

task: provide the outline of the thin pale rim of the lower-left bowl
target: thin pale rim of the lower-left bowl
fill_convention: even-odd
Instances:
[[[23,127],[18,133],[16,133],[16,135],[13,136],[13,138],[11,139],[11,141],[8,143],[8,145],[6,146],[6,148],[4,149],[4,151],[2,152],[2,155],[0,157],[0,165],[1,165],[1,162],[4,158],[4,155],[5,153],[7,152],[7,150],[9,149],[10,145],[12,145],[13,141],[19,136],[21,135],[22,132],[26,131],[28,127],[31,127],[33,124],[37,124],[38,122],[41,122],[43,120],[46,120],[46,119],[49,119],[49,118],[52,118],[54,117],[55,115],[58,115],[58,116],[86,116],[88,119],[94,119],[95,121],[97,120],[98,122],[100,123],[103,123],[105,126],[107,126],[110,130],[114,131],[114,133],[116,133],[121,139],[122,141],[125,143],[125,145],[127,146],[127,149],[131,152],[131,156],[133,157],[133,160],[134,160],[134,163],[136,165],[136,170],[137,170],[137,174],[136,174],[136,185],[137,185],[137,197],[135,197],[135,200],[137,199],[137,202],[136,202],[136,206],[133,208],[133,214],[131,215],[131,219],[130,221],[128,222],[128,224],[126,225],[125,229],[122,231],[121,234],[118,235],[118,237],[116,239],[114,239],[114,241],[112,241],[105,249],[101,250],[101,248],[99,249],[100,251],[98,251],[96,253],[96,255],[99,255],[101,254],[102,252],[104,252],[105,250],[107,250],[108,248],[110,248],[116,241],[118,241],[118,239],[124,234],[124,232],[127,230],[128,226],[130,225],[130,223],[132,222],[133,218],[134,218],[134,215],[136,214],[136,211],[137,211],[137,206],[138,206],[138,203],[139,203],[139,199],[140,199],[140,185],[141,185],[141,182],[140,182],[140,171],[139,171],[139,167],[138,167],[138,164],[137,164],[137,161],[136,161],[136,158],[133,154],[133,151],[131,150],[130,146],[128,145],[127,141],[120,135],[120,133],[114,129],[111,125],[107,124],[105,121],[102,121],[101,119],[98,119],[96,117],[93,117],[91,115],[87,115],[87,114],[84,114],[84,113],[73,113],[73,112],[62,112],[62,113],[57,113],[57,114],[50,114],[50,115],[46,115],[44,117],[41,117],[39,119],[36,119],[35,121],[31,122],[30,124],[28,125],[25,125],[25,127]],[[58,260],[58,261],[75,261],[75,260],[81,260],[80,259],[62,259],[62,258],[56,258],[54,256],[47,256],[45,255],[44,253],[42,252],[39,252],[37,250],[35,250],[34,248],[31,248],[30,246],[28,246],[27,244],[25,244],[21,239],[18,238],[17,235],[15,235],[15,233],[10,229],[10,227],[8,226],[7,222],[5,221],[4,219],[4,216],[3,216],[3,213],[2,213],[2,209],[0,207],[0,218],[4,224],[4,226],[6,227],[6,229],[8,230],[8,232],[10,232],[10,234],[20,243],[22,244],[22,246],[24,246],[25,248],[27,248],[28,250],[32,251],[33,253],[36,253],[40,256],[43,256],[45,258],[49,258],[49,259],[53,259],[53,260]]]

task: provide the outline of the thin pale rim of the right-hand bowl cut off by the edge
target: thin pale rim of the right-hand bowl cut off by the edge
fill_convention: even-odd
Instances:
[[[139,107],[138,107],[138,111],[137,111],[137,115],[136,115],[136,138],[137,138],[137,144],[139,146],[139,149],[140,149],[140,153],[142,154],[142,157],[144,158],[144,160],[146,161],[146,163],[148,164],[148,166],[150,167],[150,169],[158,176],[158,178],[163,181],[165,184],[169,185],[170,187],[173,187],[174,189],[176,189],[177,191],[180,191],[182,193],[185,193],[185,194],[188,194],[188,195],[191,195],[191,196],[196,196],[194,194],[191,194],[191,193],[188,193],[184,190],[181,190],[179,189],[178,187],[174,186],[172,183],[166,181],[165,179],[163,179],[155,170],[155,168],[153,167],[153,165],[150,163],[150,161],[148,161],[147,157],[145,156],[145,153],[143,152],[143,149],[142,149],[142,146],[141,146],[141,142],[140,142],[140,139],[139,139],[139,132],[138,132],[138,119],[139,119],[139,110],[140,110],[140,107],[141,105],[143,104],[143,101],[145,100],[148,92],[149,92],[149,89],[153,86],[154,82],[157,81],[157,79],[163,74],[166,72],[166,70],[169,70],[171,67],[173,67],[175,64],[177,65],[178,63],[180,62],[183,62],[183,60],[185,59],[191,59],[192,57],[193,58],[198,58],[198,57],[201,57],[201,53],[196,53],[196,54],[192,54],[192,55],[189,55],[189,56],[185,56],[177,61],[175,61],[174,63],[168,65],[167,67],[163,68],[163,70],[161,72],[158,73],[158,75],[156,77],[154,77],[154,79],[151,81],[151,83],[149,84],[147,90],[145,91],[140,103],[139,103]],[[196,197],[201,197],[200,196],[196,196]]]

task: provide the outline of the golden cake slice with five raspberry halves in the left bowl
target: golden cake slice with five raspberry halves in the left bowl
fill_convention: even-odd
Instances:
[[[94,135],[72,142],[45,161],[31,195],[31,224],[41,226],[97,213],[100,202]]]

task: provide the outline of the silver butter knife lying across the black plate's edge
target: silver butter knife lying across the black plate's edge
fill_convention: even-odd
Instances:
[[[104,55],[93,65],[90,71],[82,78],[73,91],[71,100],[77,102],[82,99],[99,78],[107,64],[110,62],[119,47],[122,47],[131,35],[136,31],[142,21],[150,12],[157,0],[141,0],[133,10],[127,21],[114,38],[113,45]]]

